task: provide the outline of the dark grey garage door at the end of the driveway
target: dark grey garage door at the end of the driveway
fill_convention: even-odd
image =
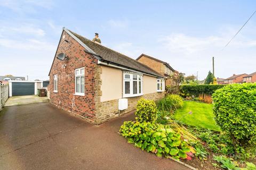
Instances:
[[[12,96],[34,95],[34,82],[12,82]]]

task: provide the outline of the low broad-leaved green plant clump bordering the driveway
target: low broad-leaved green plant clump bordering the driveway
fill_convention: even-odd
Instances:
[[[135,147],[153,152],[158,157],[172,156],[175,159],[187,158],[190,146],[174,132],[170,126],[151,122],[124,122],[119,132]]]

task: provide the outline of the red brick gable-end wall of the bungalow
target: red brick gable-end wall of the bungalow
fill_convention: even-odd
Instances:
[[[65,40],[68,40],[68,43]],[[69,59],[61,61],[55,58],[53,62],[50,73],[50,103],[94,122],[94,66],[97,65],[97,59],[85,53],[84,47],[65,31],[62,33],[56,55],[60,53],[65,53]],[[64,64],[66,68],[63,67]],[[80,67],[85,67],[85,96],[74,95],[75,69]],[[54,74],[58,74],[58,92],[53,92]]]

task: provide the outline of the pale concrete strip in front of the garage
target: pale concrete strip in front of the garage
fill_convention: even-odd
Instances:
[[[41,103],[49,101],[47,97],[39,97],[37,95],[26,95],[26,96],[13,96],[10,97],[4,106],[15,106],[15,105],[25,105],[31,103]]]

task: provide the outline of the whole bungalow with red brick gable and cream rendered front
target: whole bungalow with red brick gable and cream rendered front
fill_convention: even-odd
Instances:
[[[100,43],[63,28],[49,73],[51,104],[100,124],[133,111],[141,97],[164,96],[163,75]]]

